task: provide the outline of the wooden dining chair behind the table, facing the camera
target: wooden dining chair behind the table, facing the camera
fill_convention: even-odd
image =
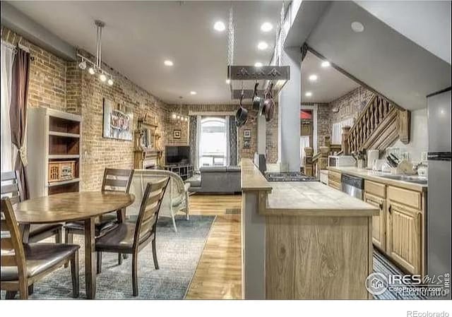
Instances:
[[[104,178],[102,180],[102,191],[117,191],[121,193],[129,193],[130,185],[133,177],[133,169],[109,169],[104,171]],[[120,218],[118,218],[120,215]],[[100,237],[109,230],[123,222],[126,216],[125,210],[117,210],[107,215],[102,215],[95,223],[95,236]],[[83,221],[74,221],[66,223],[65,241],[66,243],[73,243],[73,234],[84,234],[85,223]],[[97,262],[102,261],[102,253],[97,253]],[[121,254],[118,255],[118,263],[122,263]],[[101,268],[97,265],[97,273],[100,273]]]

